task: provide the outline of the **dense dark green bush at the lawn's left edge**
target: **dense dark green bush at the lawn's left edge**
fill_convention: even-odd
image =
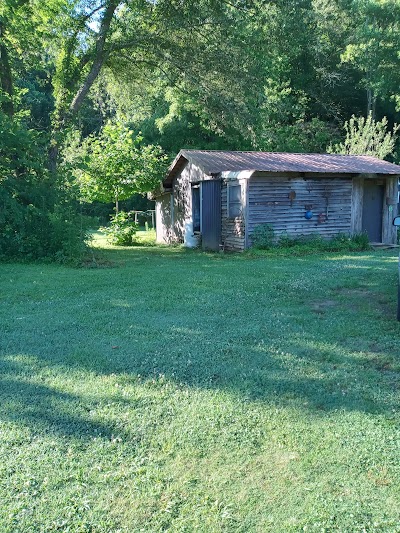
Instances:
[[[0,112],[0,259],[79,261],[83,217],[71,189],[47,171],[40,136]]]

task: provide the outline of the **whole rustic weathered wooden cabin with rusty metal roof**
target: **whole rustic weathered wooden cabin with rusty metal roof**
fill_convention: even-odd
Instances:
[[[367,232],[396,242],[400,166],[369,156],[181,150],[156,197],[157,242],[208,250],[275,235]]]

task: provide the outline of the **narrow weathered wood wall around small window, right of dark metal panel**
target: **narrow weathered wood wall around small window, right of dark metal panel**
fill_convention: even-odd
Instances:
[[[221,184],[221,241],[225,250],[242,251],[245,248],[245,201],[243,197],[246,183],[243,180],[230,183],[242,185],[243,211],[241,216],[229,218],[228,182],[223,180]]]

